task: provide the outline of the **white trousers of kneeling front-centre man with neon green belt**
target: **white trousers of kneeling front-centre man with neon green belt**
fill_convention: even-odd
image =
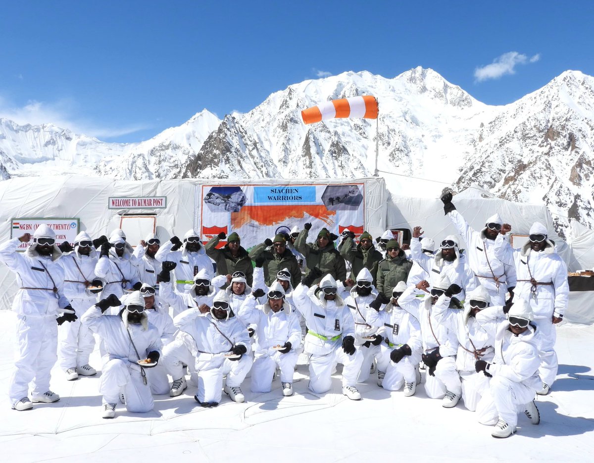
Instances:
[[[357,376],[363,364],[363,354],[359,349],[355,354],[347,355],[340,345],[326,355],[309,355],[309,389],[321,394],[330,390],[332,370],[337,363],[342,363],[342,385],[355,386]]]

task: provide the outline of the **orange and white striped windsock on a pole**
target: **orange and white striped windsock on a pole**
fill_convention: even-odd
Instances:
[[[331,100],[301,111],[301,117],[305,124],[346,117],[377,119],[377,114],[377,99],[370,95]]]

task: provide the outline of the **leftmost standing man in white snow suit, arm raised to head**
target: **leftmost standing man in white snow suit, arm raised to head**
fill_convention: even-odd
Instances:
[[[33,408],[35,402],[60,399],[49,389],[50,371],[57,360],[56,320],[61,325],[77,319],[62,294],[64,270],[56,262],[62,255],[56,234],[43,223],[34,232],[33,244],[26,253],[19,253],[18,245],[30,239],[26,233],[0,245],[0,262],[15,273],[19,286],[12,301],[12,310],[17,314],[17,347],[15,370],[8,386],[12,408],[18,411]]]

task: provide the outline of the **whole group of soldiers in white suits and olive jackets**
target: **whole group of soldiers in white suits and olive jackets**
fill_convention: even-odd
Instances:
[[[249,253],[235,232],[203,244],[194,230],[163,243],[151,234],[135,249],[119,229],[58,245],[46,225],[4,242],[0,260],[19,286],[12,408],[59,400],[49,387],[56,361],[68,380],[96,374],[95,334],[104,418],[119,403],[150,411],[153,394],[179,396],[188,383],[202,407],[223,392],[244,402],[248,374],[252,392],[269,392],[279,376],[290,396],[303,354],[314,393],[331,389],[338,363],[353,400],[371,374],[412,396],[425,371],[429,398],[446,408],[462,398],[494,437],[513,434],[518,413],[538,424],[535,393],[546,395],[557,374],[565,264],[542,224],[513,249],[500,216],[475,230],[451,194],[442,200],[465,250],[454,235],[436,247],[419,226],[410,247],[390,231],[374,244],[367,232],[356,242],[323,228],[308,242],[311,223]]]

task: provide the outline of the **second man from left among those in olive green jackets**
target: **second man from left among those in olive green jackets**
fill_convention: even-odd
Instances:
[[[267,247],[272,248],[267,251]],[[301,269],[299,268],[295,254],[287,249],[285,235],[277,234],[274,237],[274,241],[266,238],[266,241],[255,245],[249,251],[249,257],[257,264],[259,264],[258,261],[263,260],[266,286],[271,286],[276,281],[276,274],[285,268],[291,272],[291,284],[293,288],[296,288],[301,283]]]

